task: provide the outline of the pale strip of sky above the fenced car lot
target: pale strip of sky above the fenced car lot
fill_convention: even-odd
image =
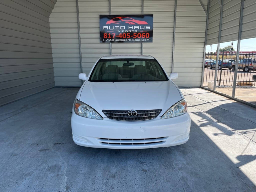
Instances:
[[[225,42],[220,44],[220,48],[226,47],[227,45],[230,45],[232,41]],[[237,50],[237,41],[233,41],[233,49],[234,51]],[[206,46],[206,52],[215,52],[217,50],[217,44]],[[256,38],[251,39],[242,39],[240,43],[240,51],[256,51]]]

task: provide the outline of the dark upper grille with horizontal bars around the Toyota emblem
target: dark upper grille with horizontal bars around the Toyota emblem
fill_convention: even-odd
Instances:
[[[102,112],[109,118],[118,121],[144,121],[154,119],[159,115],[162,109],[154,110],[138,110],[136,116],[129,116],[127,111],[120,110],[102,110]]]

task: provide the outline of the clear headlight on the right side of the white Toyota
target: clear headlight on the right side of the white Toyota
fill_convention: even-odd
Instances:
[[[161,117],[161,119],[167,119],[171,117],[176,117],[179,115],[183,115],[187,112],[187,102],[185,99],[179,101],[178,103],[171,106]]]

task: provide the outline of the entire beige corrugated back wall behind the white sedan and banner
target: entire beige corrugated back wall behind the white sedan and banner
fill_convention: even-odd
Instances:
[[[144,14],[154,15],[153,43],[143,44],[143,54],[156,57],[168,73],[172,71],[174,4],[174,0],[145,0],[143,7]],[[185,70],[181,69],[184,68],[181,66],[186,62],[186,59],[184,59],[183,57],[190,57],[190,55],[193,55],[195,57],[194,66],[197,66],[197,69],[194,71],[197,72],[192,74],[193,79],[194,81],[196,81],[196,83],[194,83],[194,81],[187,80],[185,80],[185,83],[182,83],[181,81],[184,81],[184,78],[180,78],[180,81],[178,80],[177,84],[185,85],[189,82],[188,85],[193,84],[199,86],[198,78],[200,78],[200,69],[198,68],[200,68],[199,62],[201,61],[199,60],[200,58],[202,58],[201,55],[203,52],[203,45],[201,43],[204,41],[203,33],[205,30],[206,16],[202,15],[205,13],[199,1],[179,0],[178,4],[180,5],[180,11],[177,17],[177,22],[179,22],[179,26],[177,26],[177,53],[175,57],[177,58],[177,68],[179,69],[177,69],[176,71],[179,71],[181,73],[181,77],[187,76],[189,68],[186,68]],[[50,15],[53,47],[52,52],[54,58],[55,72],[54,74],[55,84],[57,86],[81,85],[79,79],[77,78],[78,73],[80,72],[80,66],[79,49],[77,43],[78,36],[77,34],[75,34],[77,26],[74,23],[76,22],[76,10],[74,6],[75,0],[58,0],[54,10],[52,11],[52,14]],[[196,10],[191,11],[191,9],[193,8],[196,8]],[[111,1],[111,14],[113,15],[141,13],[142,1]],[[109,14],[108,0],[79,0],[82,65],[83,72],[87,74],[91,70],[94,62],[99,57],[110,54],[110,44],[100,43],[99,14]],[[190,14],[194,15],[191,17]],[[70,29],[70,24],[72,25],[72,31],[67,30],[67,27],[65,27],[69,26],[68,29]],[[188,27],[194,27],[191,33],[183,33],[187,32]],[[64,37],[66,38],[64,39]],[[72,47],[69,47],[71,45]],[[184,50],[182,50],[184,45],[187,46],[187,49],[184,49],[185,54],[182,56],[182,53],[180,52],[184,52]],[[70,50],[72,51],[72,53],[63,52],[69,50],[68,48],[71,48]],[[197,50],[195,50],[195,48]],[[194,54],[191,54],[190,50],[192,49],[194,49]],[[201,51],[201,54],[198,51]],[[141,54],[141,43],[112,43],[112,54]],[[184,64],[184,66],[185,65],[187,64]]]

